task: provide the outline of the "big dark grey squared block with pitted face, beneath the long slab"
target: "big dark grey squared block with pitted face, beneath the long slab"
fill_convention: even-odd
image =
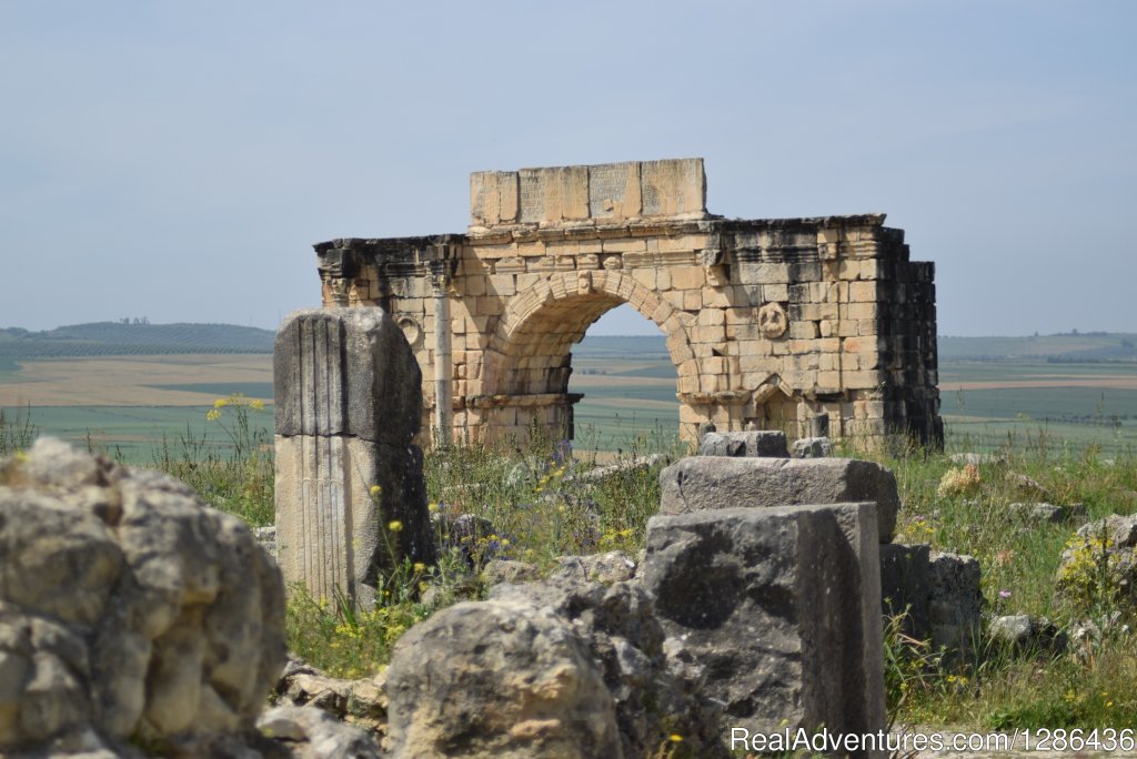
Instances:
[[[670,654],[731,725],[885,725],[875,509],[730,508],[648,522],[639,577]]]

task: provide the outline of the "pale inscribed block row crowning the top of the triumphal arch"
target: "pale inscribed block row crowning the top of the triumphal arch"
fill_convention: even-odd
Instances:
[[[470,175],[470,225],[704,218],[706,189],[702,158],[478,172]]]

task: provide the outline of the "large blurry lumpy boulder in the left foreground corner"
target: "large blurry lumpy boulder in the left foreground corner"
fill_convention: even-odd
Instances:
[[[244,523],[48,437],[0,461],[0,756],[217,756],[252,727],[284,585]]]

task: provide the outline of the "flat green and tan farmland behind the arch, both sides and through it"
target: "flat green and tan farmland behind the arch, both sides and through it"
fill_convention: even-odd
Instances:
[[[194,331],[182,332],[198,340]],[[1085,358],[1120,356],[1134,337],[941,339],[940,402],[949,448],[981,450],[1039,437],[1096,443],[1107,451],[1137,447],[1137,361]],[[208,343],[200,345],[204,350]],[[640,435],[657,447],[671,444],[679,402],[662,336],[586,337],[574,347],[572,365],[570,391],[584,394],[575,407],[578,449],[642,448],[636,442]],[[167,442],[188,436],[224,445],[222,423],[205,415],[214,399],[231,393],[271,402],[272,357],[0,353],[0,409],[7,418],[30,407],[43,433],[134,461],[152,460],[164,435]],[[251,420],[264,429],[272,425],[267,412]]]

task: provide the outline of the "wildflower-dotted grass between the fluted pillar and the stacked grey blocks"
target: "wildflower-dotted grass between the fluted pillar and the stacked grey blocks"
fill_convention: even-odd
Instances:
[[[517,445],[428,451],[428,508],[439,564],[407,561],[387,573],[373,611],[356,612],[342,598],[313,599],[291,589],[291,650],[332,675],[362,677],[385,666],[410,625],[457,601],[484,598],[482,570],[492,559],[522,560],[547,573],[566,554],[634,556],[659,501],[659,470],[679,456],[672,441],[659,440],[629,439],[628,453],[600,477],[592,462],[551,441],[524,451]],[[472,527],[460,534],[448,529],[463,522]]]

